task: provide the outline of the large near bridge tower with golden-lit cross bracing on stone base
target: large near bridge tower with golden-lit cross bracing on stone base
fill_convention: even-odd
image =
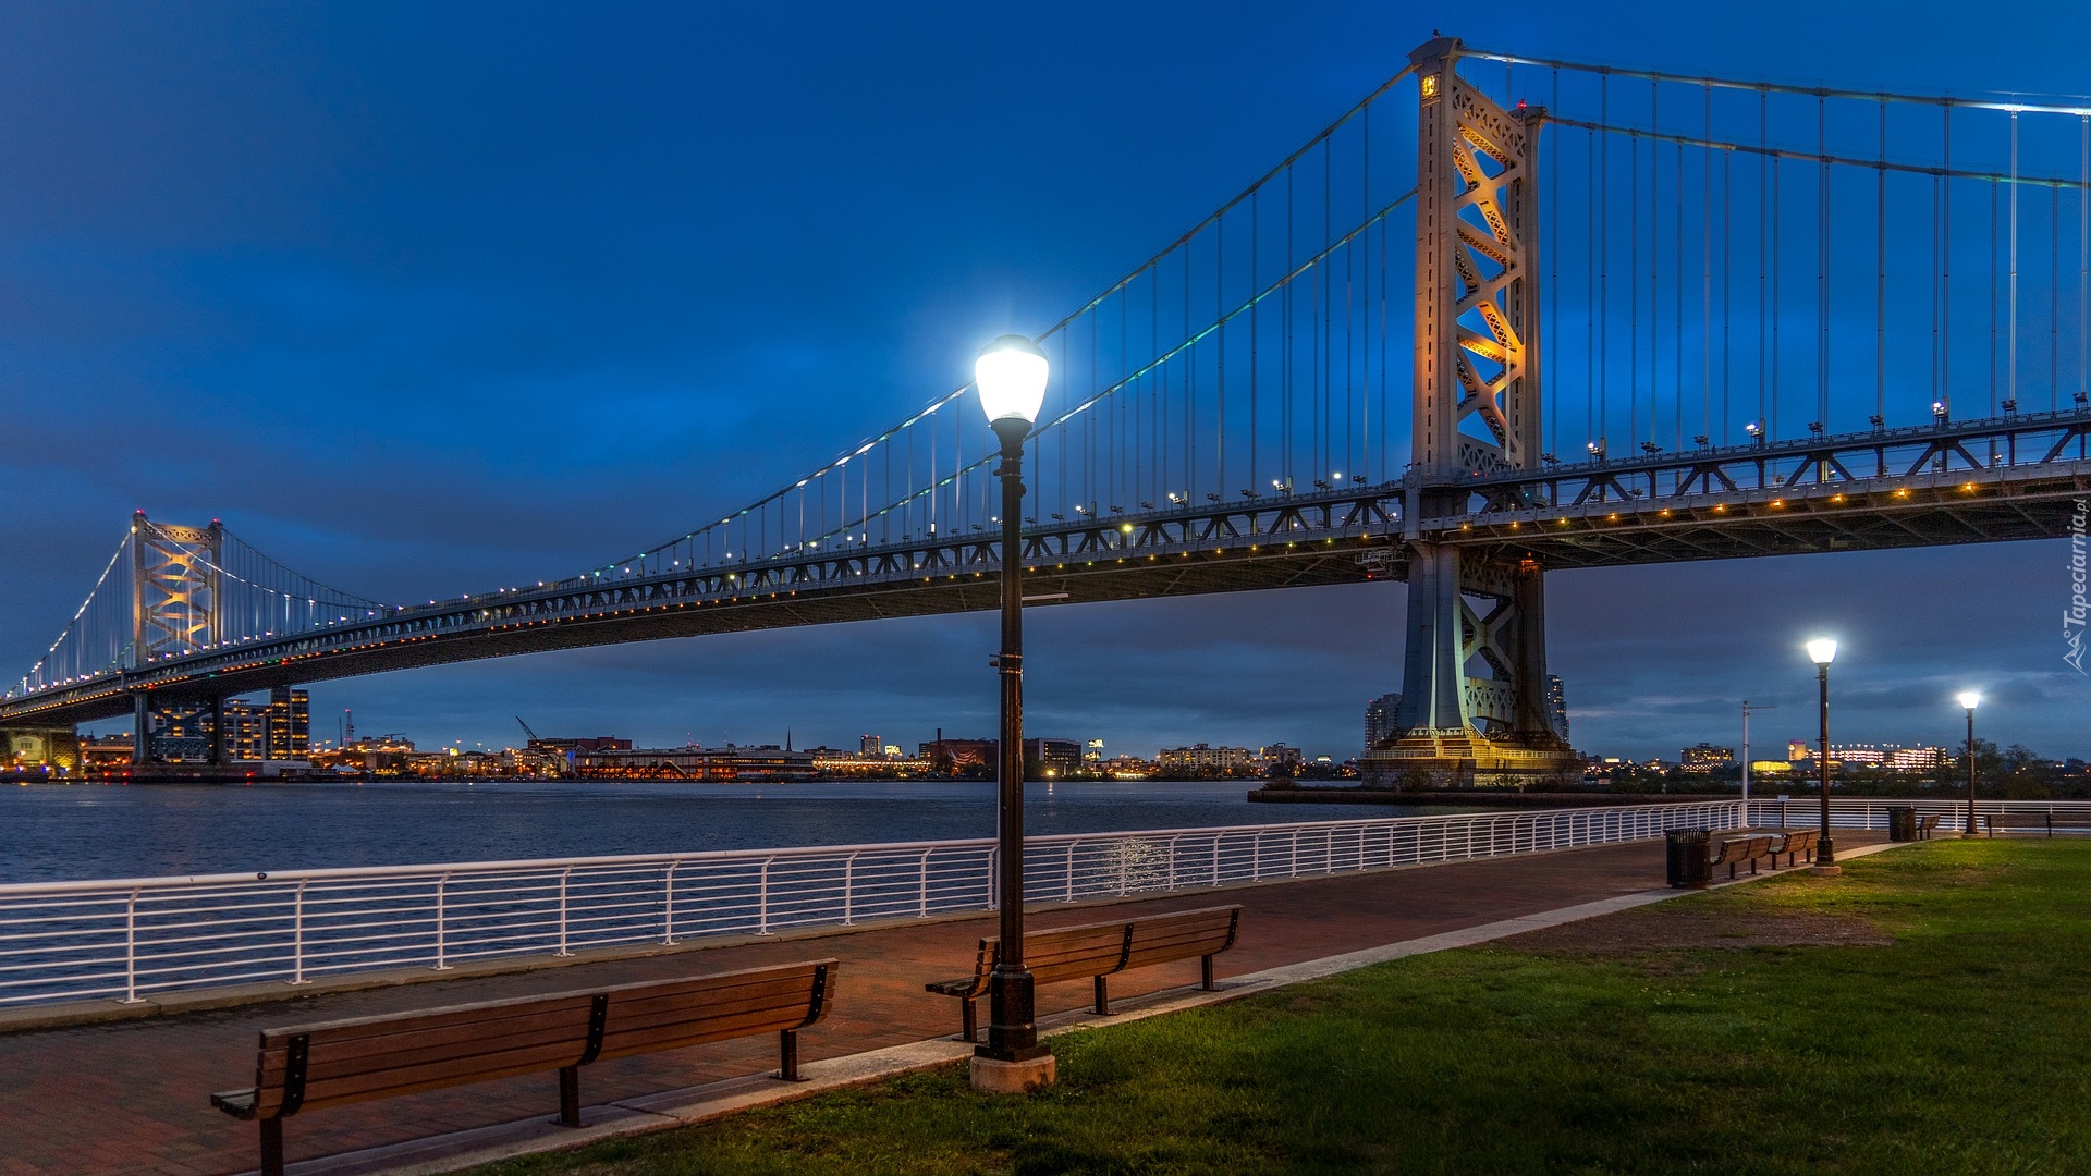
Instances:
[[[1416,398],[1407,481],[1409,624],[1395,734],[1368,785],[1529,785],[1577,768],[1547,707],[1539,561],[1424,542],[1476,475],[1539,465],[1539,128],[1460,77],[1462,44],[1414,54]]]

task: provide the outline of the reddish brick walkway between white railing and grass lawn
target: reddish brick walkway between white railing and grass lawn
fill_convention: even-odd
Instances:
[[[1108,914],[1094,906],[1046,908],[1031,917],[1031,925],[1240,902],[1240,946],[1219,958],[1219,975],[1227,977],[1658,885],[1662,845],[1641,841],[1175,894],[1112,906]],[[0,1176],[220,1176],[253,1170],[253,1124],[213,1111],[209,1092],[251,1084],[255,1032],[284,1023],[838,956],[843,971],[836,1004],[826,1021],[803,1036],[805,1059],[953,1034],[956,1002],[922,992],[922,983],[966,971],[972,944],[983,933],[993,933],[991,917],[8,1034],[0,1036]],[[1119,977],[1112,996],[1138,996],[1196,979],[1196,960],[1163,965]],[[1079,1009],[1087,996],[1087,981],[1041,988],[1039,1013]],[[583,1099],[631,1099],[772,1067],[776,1055],[769,1038],[621,1059],[585,1071]],[[289,1155],[297,1161],[550,1115],[556,1105],[554,1076],[546,1073],[335,1107],[289,1120]]]

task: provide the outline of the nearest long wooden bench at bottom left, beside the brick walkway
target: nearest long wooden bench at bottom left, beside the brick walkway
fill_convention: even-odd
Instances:
[[[558,1122],[581,1124],[581,1067],[780,1034],[778,1078],[799,1080],[799,1030],[834,1000],[836,960],[452,1004],[263,1030],[249,1090],[211,1094],[259,1120],[261,1176],[282,1176],[282,1122],[299,1111],[558,1071]]]

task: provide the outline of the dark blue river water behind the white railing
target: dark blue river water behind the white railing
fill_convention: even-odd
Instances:
[[[1031,835],[1395,816],[1248,781],[1033,783]],[[769,850],[995,835],[993,783],[0,787],[0,883]]]

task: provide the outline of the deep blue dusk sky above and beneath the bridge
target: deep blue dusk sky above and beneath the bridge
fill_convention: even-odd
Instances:
[[[0,665],[132,508],[427,598],[665,540],[1041,331],[1405,63],[1541,56],[1917,92],[2087,92],[2091,17],[1957,4],[0,6]],[[2091,755],[2062,544],[1549,580],[1577,743],[1840,734]],[[1031,728],[1357,751],[1403,588],[1031,619]],[[314,686],[316,728],[504,745],[914,745],[993,728],[991,617],[719,636]],[[1790,722],[1777,716],[1788,714]]]

